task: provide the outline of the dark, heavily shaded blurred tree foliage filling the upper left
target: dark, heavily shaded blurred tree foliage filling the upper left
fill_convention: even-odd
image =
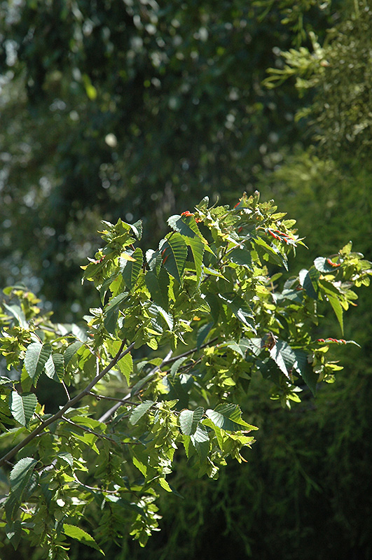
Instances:
[[[149,248],[202,196],[253,193],[304,141],[296,92],[262,87],[266,69],[294,35],[329,27],[324,2],[289,4],[3,1],[1,285],[41,290],[72,321],[102,218],[143,219]]]

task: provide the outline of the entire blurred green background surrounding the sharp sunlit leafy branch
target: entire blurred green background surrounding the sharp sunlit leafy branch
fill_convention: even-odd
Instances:
[[[298,221],[299,268],[353,241],[372,259],[372,8],[367,0],[0,1],[0,283],[71,321],[102,219],[167,216],[258,188]],[[271,70],[269,70],[271,68]],[[372,556],[371,291],[347,317],[336,384],[291,411],[262,379],[260,426],[216,482],[179,459],[162,531],[114,559]],[[322,337],[338,337],[326,317]],[[97,513],[99,514],[99,513]],[[88,520],[89,522],[89,520]],[[4,548],[4,558],[14,552]],[[39,552],[21,551],[24,557]],[[92,559],[76,547],[71,559]]]

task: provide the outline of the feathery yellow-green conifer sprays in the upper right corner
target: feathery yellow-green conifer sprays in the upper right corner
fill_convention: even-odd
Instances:
[[[315,140],[329,155],[344,155],[368,162],[371,148],[371,25],[372,9],[366,0],[350,1],[347,17],[328,30],[321,45],[310,31],[311,48],[281,52],[285,64],[269,70],[265,83],[273,87],[295,78],[302,96],[315,88],[315,99],[296,118],[310,116]]]

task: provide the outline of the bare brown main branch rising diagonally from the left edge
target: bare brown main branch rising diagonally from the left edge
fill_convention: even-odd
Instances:
[[[15,445],[15,447],[13,447],[13,449],[11,449],[11,451],[8,451],[8,453],[6,455],[1,457],[0,466],[4,465],[4,463],[6,463],[6,461],[8,461],[10,458],[12,458],[16,453],[18,453],[18,451],[20,451],[20,449],[23,449],[23,447],[25,447],[29,442],[34,440],[34,437],[36,437],[36,435],[39,435],[39,433],[41,433],[44,430],[44,428],[46,428],[47,426],[49,426],[51,423],[55,422],[56,420],[60,420],[62,418],[62,416],[64,415],[64,413],[69,408],[76,405],[76,402],[78,402],[83,397],[85,397],[85,395],[88,395],[90,393],[90,390],[92,389],[92,387],[94,387],[95,384],[97,384],[98,381],[100,379],[102,379],[102,377],[104,377],[104,375],[106,375],[106,373],[109,373],[111,368],[114,365],[116,365],[116,363],[118,363],[118,361],[121,360],[121,358],[123,358],[125,356],[125,354],[128,354],[132,350],[133,346],[135,346],[135,343],[132,342],[132,344],[130,344],[127,349],[123,350],[124,344],[125,344],[125,342],[123,341],[120,344],[120,348],[118,349],[118,352],[116,353],[116,356],[111,360],[109,365],[106,365],[104,370],[102,370],[102,372],[98,373],[95,376],[95,378],[92,379],[92,381],[90,381],[90,383],[83,389],[83,391],[78,393],[78,395],[76,395],[74,398],[71,398],[70,400],[68,400],[66,402],[66,404],[64,405],[64,407],[62,407],[58,412],[53,414],[53,416],[50,416],[48,419],[44,420],[40,424],[40,426],[38,426],[37,428],[32,430],[32,432],[29,433],[29,435],[27,435],[27,437],[25,437],[24,440],[22,440],[22,442]]]

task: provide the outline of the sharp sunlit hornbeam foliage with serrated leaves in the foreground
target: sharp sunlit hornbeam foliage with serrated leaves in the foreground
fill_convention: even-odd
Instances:
[[[233,209],[205,198],[168,224],[144,254],[142,223],[103,223],[104,246],[82,267],[100,301],[84,328],[54,324],[24,288],[4,290],[0,522],[15,548],[28,540],[68,559],[75,539],[104,554],[128,532],[145,545],[158,493],[177,492],[177,456],[212,478],[228,457],[246,461],[257,428],[237,403],[252,376],[290,406],[333,381],[342,367],[329,354],[355,344],[320,324],[330,306],[342,335],[354,288],[369,283],[351,242],[291,276],[303,241],[259,193]],[[66,394],[54,414],[37,399],[44,376]]]

